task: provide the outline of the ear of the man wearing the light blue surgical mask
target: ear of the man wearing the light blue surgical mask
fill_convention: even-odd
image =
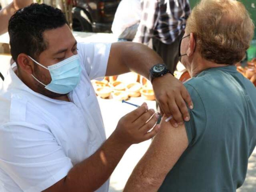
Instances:
[[[24,53],[20,53],[17,58],[17,64],[20,69],[27,72],[28,74],[34,73],[34,62]]]

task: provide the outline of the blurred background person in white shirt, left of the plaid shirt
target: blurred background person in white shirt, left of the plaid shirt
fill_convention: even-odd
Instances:
[[[116,10],[112,32],[118,41],[132,41],[141,18],[141,0],[122,0]]]

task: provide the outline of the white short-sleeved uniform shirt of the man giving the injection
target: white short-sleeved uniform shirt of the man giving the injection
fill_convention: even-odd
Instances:
[[[105,76],[110,47],[77,45],[82,75],[68,94],[71,102],[32,91],[9,69],[0,90],[1,192],[49,188],[106,140],[90,80]],[[109,180],[97,191],[108,187]]]

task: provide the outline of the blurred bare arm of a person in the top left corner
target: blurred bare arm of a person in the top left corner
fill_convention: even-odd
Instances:
[[[9,19],[14,12],[32,3],[33,0],[13,0],[12,3],[4,7],[0,11],[0,35],[7,32]]]

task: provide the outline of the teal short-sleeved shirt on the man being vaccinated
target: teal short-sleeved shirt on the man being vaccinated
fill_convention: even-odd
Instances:
[[[236,191],[256,144],[256,88],[235,66],[204,70],[185,86],[194,103],[189,146],[159,191]]]

